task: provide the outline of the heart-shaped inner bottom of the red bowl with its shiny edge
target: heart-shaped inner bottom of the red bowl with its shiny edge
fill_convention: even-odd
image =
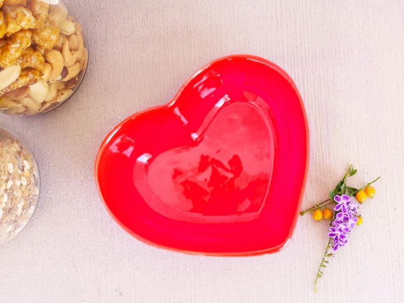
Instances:
[[[231,102],[227,96],[189,134],[190,146],[137,159],[137,191],[152,209],[173,220],[229,223],[257,218],[273,166],[273,126],[267,111],[260,98]]]

